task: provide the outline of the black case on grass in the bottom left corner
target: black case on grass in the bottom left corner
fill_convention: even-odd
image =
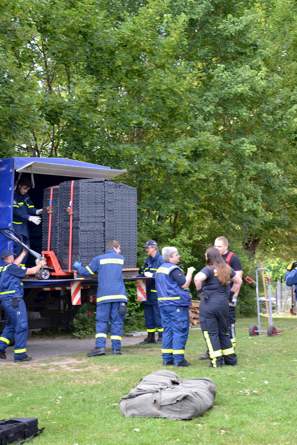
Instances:
[[[18,440],[32,439],[42,433],[44,428],[37,427],[38,419],[27,417],[14,417],[0,421],[0,445],[7,445]]]

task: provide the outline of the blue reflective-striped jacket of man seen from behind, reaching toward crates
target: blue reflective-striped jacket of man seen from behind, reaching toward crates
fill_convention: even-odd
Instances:
[[[126,287],[123,280],[122,268],[125,258],[108,249],[104,255],[92,259],[87,267],[77,267],[77,272],[84,277],[98,274],[97,303],[114,303],[126,301]]]

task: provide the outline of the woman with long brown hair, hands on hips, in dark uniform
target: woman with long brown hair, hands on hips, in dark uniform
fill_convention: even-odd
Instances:
[[[230,281],[232,292],[242,283],[240,276],[224,261],[215,247],[205,252],[206,266],[195,275],[194,283],[201,299],[199,323],[206,340],[211,363],[209,368],[225,364],[236,366],[237,357],[228,335]]]

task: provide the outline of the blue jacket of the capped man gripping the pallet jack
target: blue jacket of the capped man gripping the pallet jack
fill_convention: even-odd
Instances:
[[[9,271],[11,269],[11,271]],[[0,266],[0,299],[24,296],[24,283],[22,277],[26,275],[27,267],[17,266],[14,263],[2,263]],[[10,272],[10,273],[9,273]],[[13,274],[16,275],[13,275]]]

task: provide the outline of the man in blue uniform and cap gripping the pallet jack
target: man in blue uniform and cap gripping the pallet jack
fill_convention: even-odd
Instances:
[[[28,319],[23,299],[24,285],[22,278],[25,275],[36,274],[42,266],[45,266],[46,261],[41,260],[37,266],[28,269],[20,266],[25,255],[27,255],[27,251],[22,251],[16,259],[14,259],[14,255],[16,254],[8,250],[1,253],[0,299],[7,321],[0,336],[0,359],[6,359],[5,349],[14,337],[14,361],[24,362],[32,360],[32,358],[26,354]]]

